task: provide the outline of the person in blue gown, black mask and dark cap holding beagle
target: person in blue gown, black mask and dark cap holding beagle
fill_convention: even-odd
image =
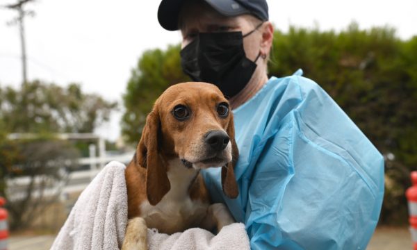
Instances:
[[[384,161],[313,81],[268,78],[265,0],[163,0],[158,20],[182,35],[181,65],[217,85],[234,109],[240,196],[213,200],[246,225],[252,249],[365,249],[382,206]],[[279,53],[279,51],[276,51]]]

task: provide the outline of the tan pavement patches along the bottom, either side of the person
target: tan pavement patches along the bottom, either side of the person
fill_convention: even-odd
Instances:
[[[9,250],[44,250],[49,249],[55,235],[11,235]],[[367,250],[412,249],[411,235],[406,227],[378,227]]]

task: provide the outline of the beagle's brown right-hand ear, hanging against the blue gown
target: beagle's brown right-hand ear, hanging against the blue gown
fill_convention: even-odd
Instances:
[[[234,175],[234,167],[238,161],[239,151],[234,138],[234,122],[233,115],[230,116],[229,125],[227,126],[227,134],[231,143],[231,162],[222,167],[222,188],[227,197],[234,199],[238,197],[239,189],[238,183]]]

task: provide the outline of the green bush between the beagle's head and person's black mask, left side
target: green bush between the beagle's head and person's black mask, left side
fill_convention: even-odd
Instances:
[[[170,85],[189,81],[181,70],[179,48],[170,46],[166,51],[146,51],[132,69],[123,96],[126,112],[122,117],[122,133],[128,142],[139,141],[146,115],[158,96]]]

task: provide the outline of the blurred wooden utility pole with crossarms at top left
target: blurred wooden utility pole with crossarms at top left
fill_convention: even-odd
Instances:
[[[17,3],[10,3],[6,6],[3,6],[4,8],[8,8],[10,10],[17,10],[18,16],[13,19],[11,22],[8,22],[9,25],[17,24],[19,25],[19,33],[20,33],[20,44],[22,49],[22,78],[23,83],[27,83],[27,66],[26,66],[26,40],[24,36],[24,17],[26,15],[33,16],[35,13],[31,10],[25,11],[23,9],[24,4],[35,1],[35,0],[19,0]]]

